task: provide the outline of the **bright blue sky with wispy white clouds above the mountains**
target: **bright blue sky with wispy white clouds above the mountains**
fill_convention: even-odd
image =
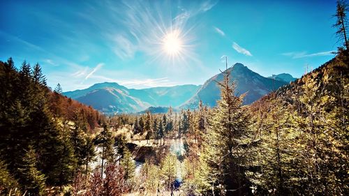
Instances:
[[[225,67],[222,56],[263,76],[300,77],[334,57],[335,10],[335,0],[2,1],[0,60],[38,62],[64,91],[203,84]],[[166,52],[174,34],[179,50]]]

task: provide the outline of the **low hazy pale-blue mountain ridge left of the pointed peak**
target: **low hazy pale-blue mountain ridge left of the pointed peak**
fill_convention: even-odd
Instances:
[[[178,107],[200,88],[200,85],[128,89],[116,82],[103,82],[87,89],[64,92],[65,96],[91,105],[106,114],[135,113],[151,106]]]

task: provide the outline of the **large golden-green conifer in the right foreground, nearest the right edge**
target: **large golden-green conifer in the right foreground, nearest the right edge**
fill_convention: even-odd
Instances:
[[[346,140],[338,135],[346,135],[348,129],[334,123],[339,123],[341,118],[332,116],[337,111],[333,110],[334,107],[329,101],[331,93],[325,91],[327,85],[319,78],[318,73],[304,77],[306,83],[299,96],[296,96],[302,105],[302,110],[296,116],[298,130],[302,133],[297,143],[304,146],[295,158],[295,169],[301,176],[296,187],[306,194],[341,195],[346,191],[343,177],[348,178],[348,174],[344,174],[343,167],[339,165],[343,160],[348,160],[348,153],[343,151]],[[336,178],[341,180],[335,181]]]

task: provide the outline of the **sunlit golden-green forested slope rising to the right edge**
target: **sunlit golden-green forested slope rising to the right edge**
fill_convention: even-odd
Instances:
[[[348,195],[348,65],[342,52],[251,105],[260,171],[248,176],[256,188]]]

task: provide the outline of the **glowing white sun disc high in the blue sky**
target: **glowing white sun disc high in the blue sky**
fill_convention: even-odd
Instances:
[[[179,38],[179,31],[172,31],[165,34],[163,38],[163,50],[171,56],[179,54],[183,45]]]

